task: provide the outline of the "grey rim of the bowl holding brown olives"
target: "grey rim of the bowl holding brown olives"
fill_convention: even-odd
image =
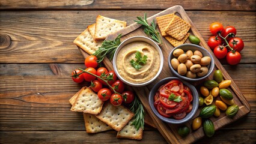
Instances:
[[[186,77],[186,76],[181,76],[180,74],[178,74],[177,71],[174,70],[174,68],[173,68],[172,65],[171,65],[172,53],[174,52],[175,49],[179,49],[180,47],[184,47],[184,46],[194,46],[194,47],[196,47],[196,49],[204,50],[206,53],[208,53],[207,56],[209,56],[209,57],[211,58],[211,63],[210,63],[210,65],[209,65],[209,71],[208,71],[208,73],[206,74],[206,76],[198,77],[198,78],[192,79],[192,78],[189,78],[189,77]],[[182,48],[180,48],[180,49],[182,49]],[[213,69],[215,68],[215,61],[214,61],[214,58],[213,58],[213,56],[211,55],[211,53],[208,52],[208,50],[205,49],[204,47],[198,46],[197,44],[181,44],[180,46],[174,47],[174,49],[172,49],[171,52],[169,53],[169,56],[168,56],[168,65],[169,65],[169,68],[171,69],[172,73],[174,73],[175,76],[180,77],[180,78],[183,79],[183,80],[195,82],[195,81],[198,81],[198,80],[206,79],[206,77],[208,77],[208,76],[213,72]]]

